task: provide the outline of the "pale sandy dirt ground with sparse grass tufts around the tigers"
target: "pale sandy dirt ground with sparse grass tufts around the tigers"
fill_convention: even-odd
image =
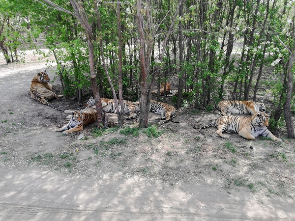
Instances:
[[[31,100],[30,81],[55,66],[29,54],[26,63],[0,59],[0,220],[294,220],[295,142],[219,138],[215,112],[180,110],[179,124],[158,126],[158,138],[138,125],[110,127],[95,137],[94,125],[62,135],[66,113]],[[53,89],[61,94],[59,81]],[[85,98],[87,99],[87,98]],[[75,109],[70,98],[53,100]],[[116,114],[108,114],[116,125]],[[157,124],[150,114],[150,124]],[[83,134],[84,139],[78,140]]]

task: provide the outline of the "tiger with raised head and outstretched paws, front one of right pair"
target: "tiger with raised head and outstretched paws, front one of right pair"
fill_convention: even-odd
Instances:
[[[228,136],[223,135],[222,132],[235,132],[239,136],[246,139],[254,139],[259,135],[267,138],[271,138],[274,141],[282,142],[283,140],[275,137],[267,129],[268,127],[268,115],[263,111],[259,111],[252,116],[220,116],[213,120],[209,125],[194,129],[205,129],[212,126],[217,128],[216,133],[222,138],[228,138]]]

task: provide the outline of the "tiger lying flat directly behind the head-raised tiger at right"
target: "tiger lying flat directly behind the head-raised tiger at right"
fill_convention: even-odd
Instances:
[[[232,114],[255,114],[258,111],[266,112],[266,106],[263,101],[220,101],[217,104],[217,109],[221,111],[221,115]]]

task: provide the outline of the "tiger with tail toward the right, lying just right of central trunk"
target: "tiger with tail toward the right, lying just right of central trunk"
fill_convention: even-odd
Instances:
[[[176,115],[176,109],[172,105],[150,100],[149,111],[161,115],[161,117],[158,118],[157,120],[164,120],[165,123],[167,123],[169,120],[171,120],[174,123],[179,123],[173,120],[177,115]]]

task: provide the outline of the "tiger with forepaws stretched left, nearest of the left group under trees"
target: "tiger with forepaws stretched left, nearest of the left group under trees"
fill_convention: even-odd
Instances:
[[[97,120],[97,112],[95,108],[86,108],[82,111],[74,111],[70,121],[65,126],[55,129],[55,131],[63,131],[62,134],[69,134],[76,131],[82,131],[83,126],[93,123]]]

